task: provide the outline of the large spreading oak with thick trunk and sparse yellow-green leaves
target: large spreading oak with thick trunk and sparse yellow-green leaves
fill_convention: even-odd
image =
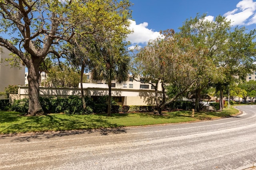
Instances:
[[[108,9],[127,1],[117,0],[0,0],[0,45],[16,54],[28,67],[28,115],[43,114],[39,102],[39,67],[52,53],[61,57],[61,46],[77,33],[94,34],[102,28]],[[95,10],[98,4],[103,8]],[[123,5],[123,6],[122,6]],[[126,14],[116,10],[116,15]],[[105,16],[105,17],[103,17]],[[122,21],[120,21],[122,22]],[[79,26],[86,26],[83,32]]]

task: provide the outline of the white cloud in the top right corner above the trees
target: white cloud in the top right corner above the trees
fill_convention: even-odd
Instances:
[[[242,0],[236,5],[236,9],[224,14],[231,25],[251,25],[256,23],[256,2],[253,0]]]

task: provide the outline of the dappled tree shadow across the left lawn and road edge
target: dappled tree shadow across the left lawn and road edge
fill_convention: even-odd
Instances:
[[[21,116],[24,119],[23,121],[9,116],[6,116],[9,124],[3,130],[7,134],[0,135],[0,139],[1,137],[16,137],[13,141],[22,142],[81,133],[99,132],[101,135],[126,133],[126,130],[122,129],[120,125],[110,123],[108,120],[102,119],[102,116],[97,115],[49,114],[33,117]],[[14,115],[14,117],[17,116]]]

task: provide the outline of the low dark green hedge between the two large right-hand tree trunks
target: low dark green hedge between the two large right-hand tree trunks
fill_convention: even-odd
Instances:
[[[173,101],[165,106],[167,111],[172,111],[175,109],[182,109],[182,110],[191,110],[194,108],[194,102],[189,101]]]

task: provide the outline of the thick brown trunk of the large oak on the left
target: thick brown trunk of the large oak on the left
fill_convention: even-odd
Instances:
[[[26,115],[43,115],[44,111],[39,100],[39,64],[35,60],[28,63],[28,113]]]

